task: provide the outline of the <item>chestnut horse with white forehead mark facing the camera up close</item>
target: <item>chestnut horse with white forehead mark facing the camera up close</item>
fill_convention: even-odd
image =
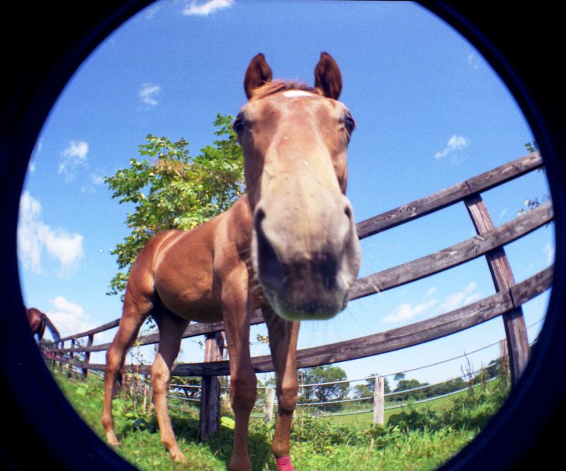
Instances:
[[[112,389],[127,349],[151,314],[160,335],[151,382],[161,441],[174,460],[184,459],[166,402],[171,367],[190,320],[223,320],[236,416],[229,470],[251,470],[248,423],[256,378],[249,321],[261,308],[277,376],[272,451],[280,470],[293,469],[289,433],[299,320],[328,319],[343,310],[359,269],[359,241],[345,197],[354,120],[337,101],[342,76],[325,52],[314,87],[271,79],[265,57],[256,55],[244,79],[248,103],[233,123],[248,193],[195,229],[158,234],[132,266],[120,327],[106,355],[102,423],[114,446]]]

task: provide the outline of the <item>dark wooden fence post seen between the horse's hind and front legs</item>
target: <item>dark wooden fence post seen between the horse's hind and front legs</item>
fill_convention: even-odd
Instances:
[[[204,343],[204,361],[221,361],[224,337],[221,332],[207,334]],[[200,421],[198,439],[201,442],[216,432],[220,426],[220,378],[203,376],[200,392]]]

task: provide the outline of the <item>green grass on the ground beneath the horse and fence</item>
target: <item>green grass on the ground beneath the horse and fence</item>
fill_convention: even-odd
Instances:
[[[64,395],[88,426],[104,440],[100,424],[102,380],[86,382],[53,373]],[[503,387],[446,397],[439,404],[394,409],[386,426],[371,419],[313,419],[296,415],[291,432],[291,456],[301,471],[434,470],[466,446],[504,401]],[[140,401],[141,402],[141,401]],[[173,403],[175,404],[173,406]],[[154,412],[133,407],[126,392],[113,404],[117,453],[141,470],[226,470],[233,441],[233,421],[224,419],[219,432],[206,443],[197,441],[198,410],[170,401],[173,429],[187,461],[173,463],[161,444]],[[357,417],[357,416],[353,416]],[[273,424],[253,420],[249,450],[254,471],[275,471],[270,452]]]

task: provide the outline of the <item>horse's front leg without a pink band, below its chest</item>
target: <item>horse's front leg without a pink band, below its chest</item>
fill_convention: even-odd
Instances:
[[[230,471],[251,471],[248,426],[255,404],[257,379],[250,358],[250,315],[246,290],[238,289],[241,277],[222,295],[224,329],[230,355],[230,399],[236,419]]]

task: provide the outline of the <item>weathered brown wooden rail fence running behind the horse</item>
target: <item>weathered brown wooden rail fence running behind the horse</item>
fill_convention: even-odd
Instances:
[[[416,220],[449,205],[463,202],[478,235],[434,254],[359,278],[350,291],[350,300],[420,280],[461,263],[477,259],[480,256],[485,256],[487,260],[496,293],[478,302],[473,302],[473,304],[405,327],[335,344],[304,348],[297,352],[299,368],[354,360],[423,344],[468,329],[494,317],[502,316],[509,351],[512,384],[515,384],[524,371],[529,358],[529,344],[521,306],[550,288],[553,266],[545,268],[545,270],[521,283],[515,283],[507,256],[505,256],[504,245],[552,221],[553,208],[550,202],[543,203],[537,208],[515,217],[514,220],[495,227],[480,193],[542,167],[543,161],[540,154],[533,152],[450,188],[359,222],[357,224],[358,236],[359,239],[364,239],[405,222]],[[117,327],[119,321],[120,319],[116,319],[96,329],[60,339],[52,346],[50,356],[57,358],[57,361],[62,363],[71,363],[82,368],[85,376],[89,369],[104,370],[105,365],[103,364],[89,363],[89,356],[94,351],[105,351],[110,344],[93,345],[93,338],[100,332]],[[258,310],[253,314],[251,324],[262,322],[264,322],[264,319]],[[229,375],[229,362],[221,361],[221,355],[219,356],[223,345],[222,336],[219,335],[221,331],[223,331],[221,322],[190,324],[183,334],[183,339],[206,336],[207,346],[205,351],[207,353],[204,362],[178,364],[172,372],[172,375],[175,376],[203,377],[203,385],[207,385],[202,392],[203,399],[201,402],[204,404],[204,412],[215,411],[219,400],[219,388],[216,387],[214,381],[211,382],[211,377]],[[78,339],[81,338],[87,339],[86,346],[77,344]],[[71,342],[70,348],[65,348],[64,344],[67,341]],[[141,336],[138,339],[139,345],[156,344],[157,342],[158,334]],[[76,353],[83,354],[82,361],[77,361]],[[269,355],[253,357],[252,363],[256,373],[267,373],[274,370]],[[136,368],[139,373],[147,375],[150,365],[135,367],[127,365],[125,368],[129,370]],[[202,414],[204,412],[202,410]],[[202,414],[201,419],[203,420]],[[211,420],[214,422],[214,419]],[[210,427],[212,427],[210,431],[214,430],[214,424]],[[209,433],[207,430],[208,426],[204,426],[202,436]]]

